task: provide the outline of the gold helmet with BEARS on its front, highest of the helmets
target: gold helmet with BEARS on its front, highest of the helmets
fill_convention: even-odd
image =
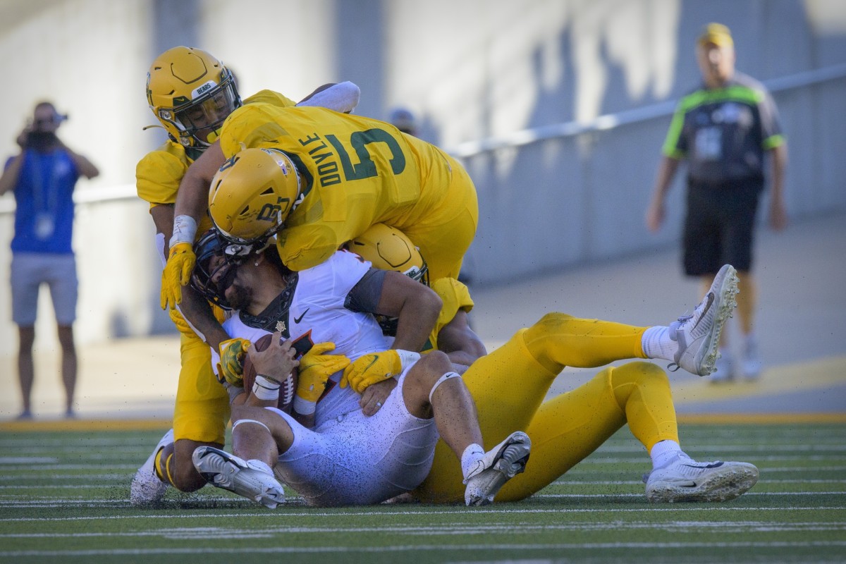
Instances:
[[[147,102],[173,140],[199,151],[217,139],[223,120],[241,106],[232,72],[193,47],[173,47],[153,61]]]

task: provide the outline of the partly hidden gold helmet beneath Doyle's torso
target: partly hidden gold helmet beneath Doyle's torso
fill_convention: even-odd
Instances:
[[[374,268],[402,272],[417,282],[429,285],[429,267],[420,255],[420,249],[405,233],[394,227],[376,223],[345,246],[362,259],[369,260]]]

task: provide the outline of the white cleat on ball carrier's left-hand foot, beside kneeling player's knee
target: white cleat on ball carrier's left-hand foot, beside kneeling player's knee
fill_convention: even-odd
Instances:
[[[285,492],[273,474],[213,446],[198,446],[191,455],[194,468],[211,485],[232,491],[265,507],[284,503]]]

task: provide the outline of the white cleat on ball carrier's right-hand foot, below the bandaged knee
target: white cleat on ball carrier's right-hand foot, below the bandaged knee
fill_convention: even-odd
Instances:
[[[523,472],[529,460],[531,440],[523,431],[515,431],[505,441],[485,453],[476,468],[464,477],[464,503],[485,506],[503,485]]]

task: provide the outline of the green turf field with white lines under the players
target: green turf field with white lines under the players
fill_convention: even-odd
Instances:
[[[0,562],[846,561],[846,424],[682,425],[691,456],[761,468],[722,504],[648,504],[624,429],[519,503],[270,511],[206,487],[136,509],[162,431],[4,431]]]

